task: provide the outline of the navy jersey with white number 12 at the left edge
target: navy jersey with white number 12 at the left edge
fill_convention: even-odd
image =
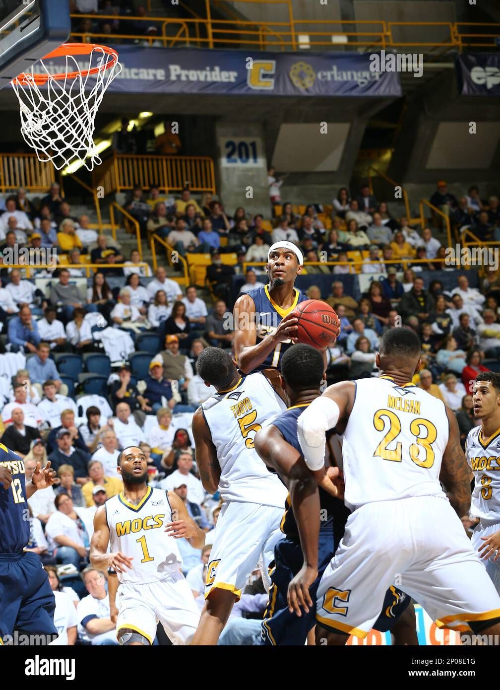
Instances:
[[[24,462],[0,444],[0,467],[8,468],[12,474],[8,489],[0,485],[0,553],[21,553],[30,540]]]

